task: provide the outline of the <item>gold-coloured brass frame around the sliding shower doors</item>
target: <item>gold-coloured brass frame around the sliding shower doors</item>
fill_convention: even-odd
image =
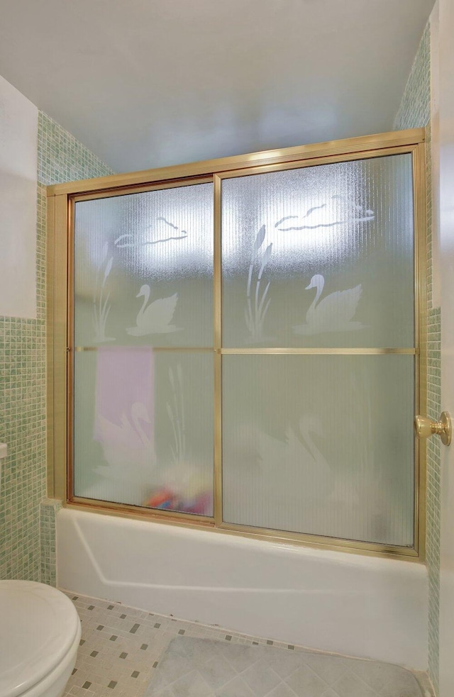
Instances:
[[[411,153],[413,163],[415,235],[415,347],[394,348],[223,348],[221,338],[221,183],[223,179],[243,177],[282,169],[311,167],[399,153]],[[425,133],[423,129],[350,138],[316,145],[255,152],[221,160],[196,162],[179,167],[111,175],[81,182],[48,186],[48,495],[62,498],[65,506],[87,508],[99,513],[159,520],[171,525],[209,528],[223,534],[303,544],[357,554],[423,561],[426,535],[426,444],[415,441],[414,547],[399,547],[342,540],[299,532],[283,532],[222,519],[222,356],[228,354],[310,354],[310,355],[386,355],[415,356],[415,407],[426,412],[426,196]],[[93,501],[72,494],[72,370],[74,351],[96,350],[75,347],[72,334],[73,299],[73,218],[77,201],[135,194],[175,186],[214,182],[214,349],[206,347],[156,348],[155,350],[205,350],[214,352],[214,516],[157,511],[128,504]],[[69,465],[69,466],[68,466]]]

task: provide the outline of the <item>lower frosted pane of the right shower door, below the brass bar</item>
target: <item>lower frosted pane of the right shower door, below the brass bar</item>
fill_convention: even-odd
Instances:
[[[413,545],[414,358],[223,357],[223,519]]]

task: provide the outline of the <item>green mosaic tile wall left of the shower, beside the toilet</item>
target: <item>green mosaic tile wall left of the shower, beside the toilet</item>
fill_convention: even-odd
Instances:
[[[55,584],[55,513],[45,501],[45,185],[112,174],[48,116],[38,116],[37,318],[0,317],[0,579]],[[42,554],[41,554],[42,552]],[[42,558],[41,558],[42,557]]]

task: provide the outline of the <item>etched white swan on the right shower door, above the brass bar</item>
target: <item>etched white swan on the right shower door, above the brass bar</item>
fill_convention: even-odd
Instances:
[[[362,286],[346,291],[336,291],[326,296],[319,302],[323,293],[325,279],[321,274],[311,278],[306,291],[316,288],[316,296],[306,313],[306,324],[295,325],[295,334],[321,334],[323,332],[349,332],[362,329],[365,325],[360,322],[352,322],[358,302],[362,294]]]

